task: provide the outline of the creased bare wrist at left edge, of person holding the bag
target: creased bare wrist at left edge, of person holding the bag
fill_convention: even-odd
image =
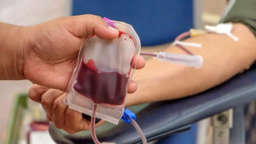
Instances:
[[[0,80],[20,80],[23,75],[22,26],[0,23]]]

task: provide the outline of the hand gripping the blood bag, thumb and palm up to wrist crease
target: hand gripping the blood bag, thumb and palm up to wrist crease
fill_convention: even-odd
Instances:
[[[83,36],[102,39],[118,36],[99,16],[80,15],[56,18],[22,28],[26,32],[23,74],[38,85],[66,91],[77,64]]]

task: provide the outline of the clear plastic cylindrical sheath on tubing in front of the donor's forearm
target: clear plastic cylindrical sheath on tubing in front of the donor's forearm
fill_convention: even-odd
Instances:
[[[191,66],[196,69],[199,69],[203,65],[203,58],[200,55],[185,55],[177,53],[168,53],[168,52],[155,52],[157,54],[155,59],[158,59],[162,62],[176,63],[186,66]]]

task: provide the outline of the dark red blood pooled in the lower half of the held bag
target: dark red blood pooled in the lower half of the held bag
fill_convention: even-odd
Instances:
[[[98,72],[93,60],[81,63],[74,89],[96,104],[121,105],[124,103],[128,78],[118,72]]]

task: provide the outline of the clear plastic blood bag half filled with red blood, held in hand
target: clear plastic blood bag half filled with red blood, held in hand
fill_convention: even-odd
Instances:
[[[84,38],[74,71],[70,92],[64,102],[70,108],[117,124],[125,105],[131,77],[136,69],[140,41],[133,27],[124,22],[107,20],[119,31],[112,40],[96,35]]]

